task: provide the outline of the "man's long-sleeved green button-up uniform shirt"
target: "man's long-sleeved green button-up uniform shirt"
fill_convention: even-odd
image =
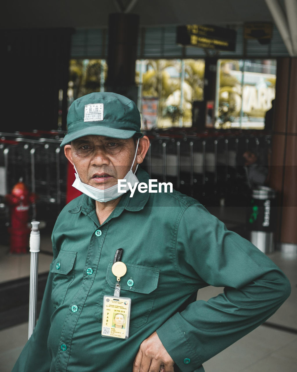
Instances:
[[[148,183],[143,170],[137,177]],[[204,371],[203,362],[260,325],[290,294],[283,272],[198,201],[175,191],[129,196],[102,225],[85,195],[59,215],[40,317],[13,372],[131,372],[141,342],[156,330],[174,371]],[[101,336],[118,248],[127,266],[121,296],[132,299],[127,340]],[[195,301],[207,285],[225,291]]]

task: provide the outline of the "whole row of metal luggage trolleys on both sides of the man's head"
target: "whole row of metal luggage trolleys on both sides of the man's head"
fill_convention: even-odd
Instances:
[[[143,166],[160,182],[172,182],[182,193],[205,204],[220,198],[239,198],[247,191],[242,154],[253,151],[264,158],[271,136],[263,131],[170,129],[147,132],[150,148]],[[32,193],[32,219],[55,220],[65,205],[67,160],[61,151],[63,134],[0,132],[0,198],[10,193],[20,177]],[[263,155],[264,154],[264,155]]]

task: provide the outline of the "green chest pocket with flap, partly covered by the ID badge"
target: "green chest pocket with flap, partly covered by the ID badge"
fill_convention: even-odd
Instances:
[[[147,322],[157,294],[160,269],[126,263],[127,272],[121,277],[121,297],[131,298],[130,327],[140,327]],[[111,272],[112,261],[106,272],[105,293],[99,300],[95,316],[102,321],[104,295],[113,295],[117,279]],[[132,284],[133,283],[133,284]],[[131,285],[132,284],[132,285]]]

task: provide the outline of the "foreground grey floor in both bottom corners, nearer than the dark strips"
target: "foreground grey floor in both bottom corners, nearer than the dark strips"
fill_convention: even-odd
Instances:
[[[12,370],[27,333],[28,323],[0,332],[0,372]],[[296,350],[296,334],[261,325],[203,366],[206,372],[295,372]]]

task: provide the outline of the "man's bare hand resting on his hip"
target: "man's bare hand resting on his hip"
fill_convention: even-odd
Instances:
[[[164,365],[163,371],[174,372],[174,362],[154,332],[141,343],[134,360],[133,372],[159,372],[161,365]]]

